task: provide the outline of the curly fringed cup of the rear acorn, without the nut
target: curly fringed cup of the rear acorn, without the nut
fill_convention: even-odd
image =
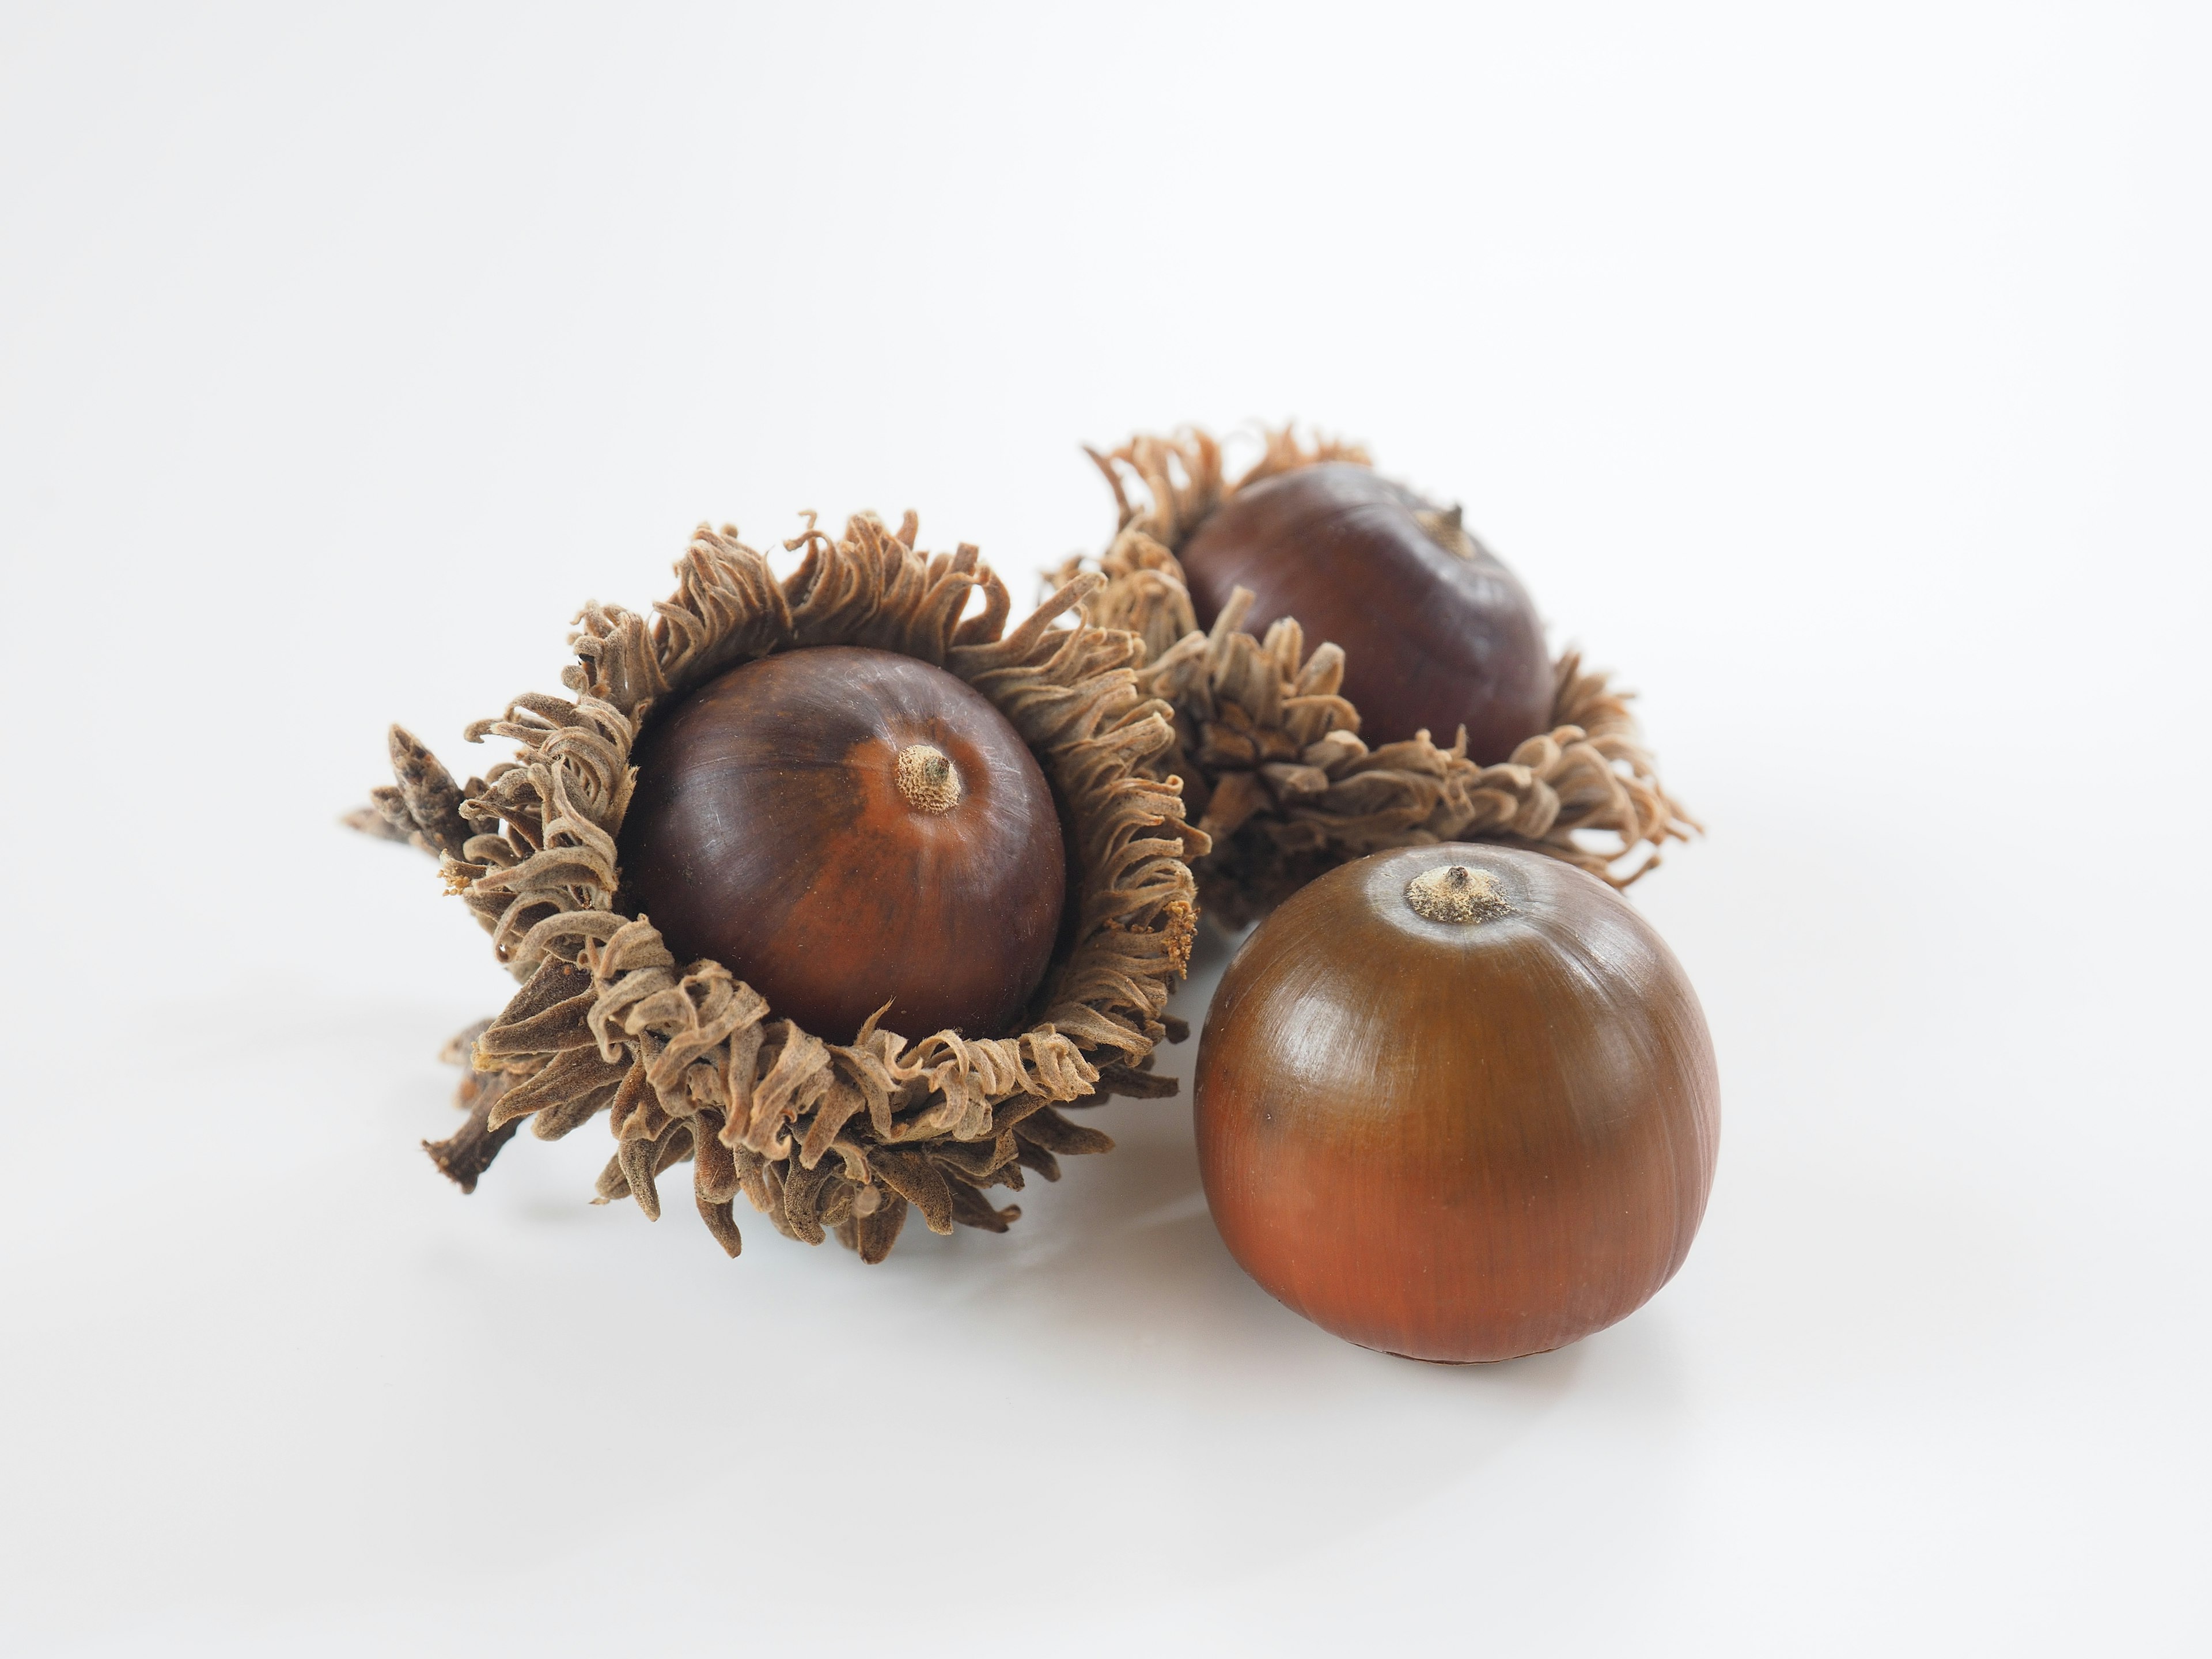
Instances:
[[[1091,617],[1144,641],[1137,681],[1175,708],[1168,765],[1212,843],[1197,860],[1208,914],[1245,925],[1336,865],[1436,841],[1524,847],[1626,887],[1659,863],[1666,841],[1697,827],[1659,785],[1628,712],[1632,692],[1584,670],[1579,653],[1551,668],[1548,730],[1482,765],[1464,732],[1451,748],[1431,732],[1369,748],[1343,695],[1345,653],[1307,650],[1294,617],[1254,637],[1243,626],[1245,588],[1199,628],[1179,555],[1208,518],[1239,491],[1303,467],[1367,467],[1363,449],[1307,445],[1285,427],[1230,478],[1221,445],[1183,429],[1091,458],[1113,484],[1119,524],[1104,555],[1071,560],[1057,580],[1106,575]],[[1455,509],[1422,529],[1440,546],[1471,542]]]

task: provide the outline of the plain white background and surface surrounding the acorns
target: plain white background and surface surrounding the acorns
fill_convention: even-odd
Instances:
[[[0,1646],[2203,1652],[2208,75],[2185,4],[13,0]],[[334,827],[389,719],[469,763],[701,518],[1026,588],[1079,442],[1290,416],[1712,827],[1650,1307],[1347,1347],[1188,1102],[880,1270],[588,1208],[595,1133],[434,1175],[507,982]]]

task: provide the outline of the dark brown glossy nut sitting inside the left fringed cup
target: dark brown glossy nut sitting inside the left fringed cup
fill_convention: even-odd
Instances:
[[[947,812],[898,757],[945,754]],[[653,721],[617,838],[622,905],[827,1042],[1018,1029],[1053,956],[1051,785],[978,690],[916,657],[818,646],[741,664]]]

